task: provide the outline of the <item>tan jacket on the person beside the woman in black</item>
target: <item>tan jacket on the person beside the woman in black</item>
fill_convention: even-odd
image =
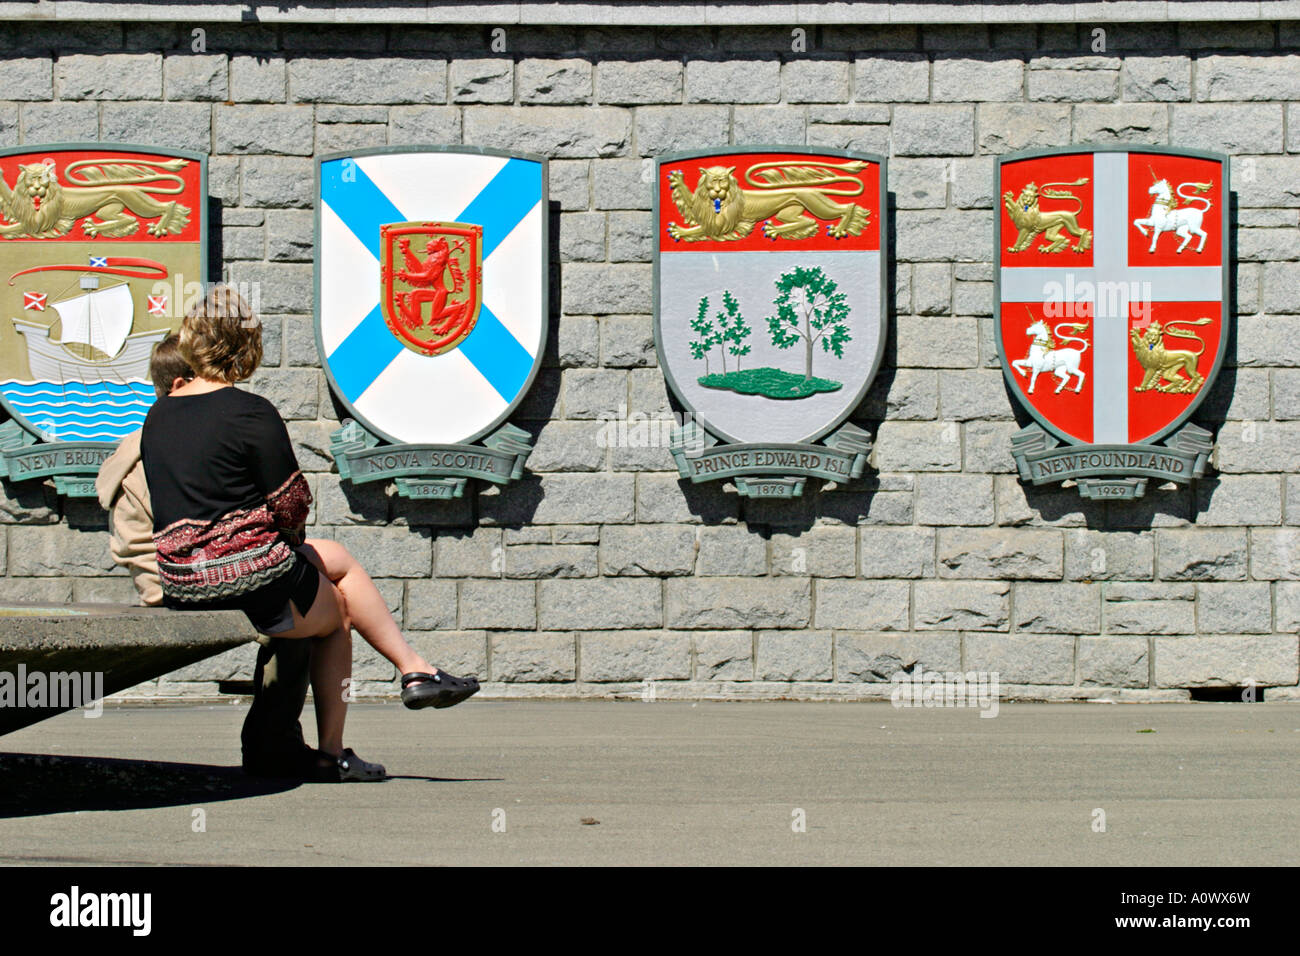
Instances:
[[[140,592],[140,602],[162,604],[159,583],[157,550],[153,548],[153,509],[150,486],[140,462],[140,433],[122,438],[117,451],[99,468],[95,492],[100,506],[108,511],[112,531],[113,561],[131,572],[131,583]]]

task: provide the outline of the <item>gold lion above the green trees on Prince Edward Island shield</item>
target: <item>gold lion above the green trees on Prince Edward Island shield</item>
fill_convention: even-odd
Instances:
[[[754,189],[741,187],[736,166],[699,166],[694,193],[686,189],[682,172],[673,169],[668,173],[672,202],[686,225],[670,222],[668,235],[686,242],[744,239],[762,222],[763,235],[770,239],[807,239],[816,235],[818,220],[835,220],[826,228],[835,239],[861,235],[871,211],[831,196],[861,195],[866,187],[852,173],[861,173],[866,165],[763,160],[745,170],[745,182]]]

